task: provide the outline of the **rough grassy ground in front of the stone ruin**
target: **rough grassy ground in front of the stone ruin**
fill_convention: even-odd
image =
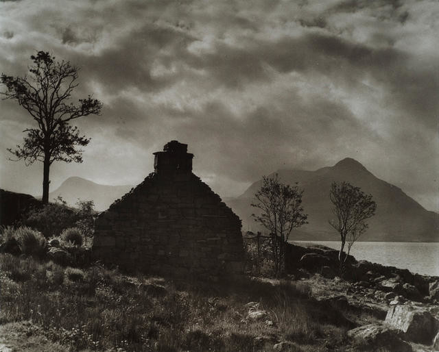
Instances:
[[[300,281],[175,282],[1,254],[0,285],[0,325],[25,321],[56,351],[343,351],[357,325]]]

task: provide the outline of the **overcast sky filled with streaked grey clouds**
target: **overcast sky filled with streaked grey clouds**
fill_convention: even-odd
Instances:
[[[222,196],[278,168],[359,160],[439,210],[438,1],[0,0],[0,72],[49,51],[81,67],[102,116],[70,176],[137,184],[154,151],[189,144]],[[8,161],[32,120],[0,101],[0,187],[42,193],[42,166]]]

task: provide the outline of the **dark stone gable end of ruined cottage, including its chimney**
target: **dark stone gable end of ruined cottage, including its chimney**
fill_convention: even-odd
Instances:
[[[241,274],[241,220],[192,173],[187,144],[154,155],[154,173],[97,216],[93,256],[178,277]]]

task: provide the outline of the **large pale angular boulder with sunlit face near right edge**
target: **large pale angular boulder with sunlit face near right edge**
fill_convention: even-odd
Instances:
[[[423,307],[395,305],[390,307],[385,323],[403,331],[405,340],[431,344],[439,331],[439,321]]]

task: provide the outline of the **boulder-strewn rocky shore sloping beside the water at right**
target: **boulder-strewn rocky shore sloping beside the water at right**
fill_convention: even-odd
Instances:
[[[439,351],[439,277],[352,256],[340,277],[337,256],[318,244],[290,244],[287,271],[292,279],[308,283],[318,301],[379,319],[348,331],[356,349]]]

